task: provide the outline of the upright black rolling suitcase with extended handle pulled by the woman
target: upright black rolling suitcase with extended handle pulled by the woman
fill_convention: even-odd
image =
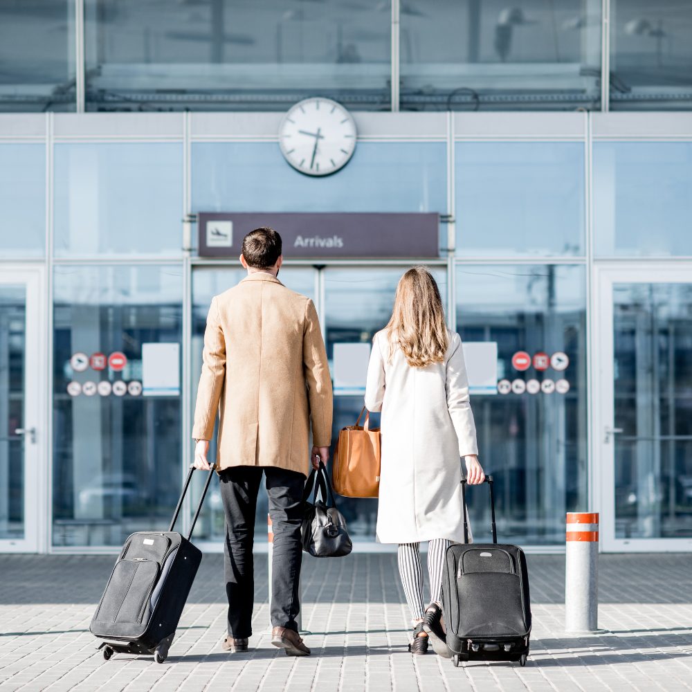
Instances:
[[[468,543],[466,479],[462,478],[463,545],[448,547],[442,581],[447,646],[460,661],[526,664],[531,635],[529,572],[517,545],[498,543],[493,477],[487,476],[493,543]]]

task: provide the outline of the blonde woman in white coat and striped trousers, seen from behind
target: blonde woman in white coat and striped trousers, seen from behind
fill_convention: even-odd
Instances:
[[[435,279],[424,266],[399,280],[392,318],[374,336],[365,406],[381,411],[382,466],[377,537],[399,544],[399,573],[412,614],[409,650],[448,657],[441,626],[444,555],[464,542],[461,465],[485,480],[468,403],[464,352],[444,321]],[[430,604],[424,610],[419,545],[429,541]]]

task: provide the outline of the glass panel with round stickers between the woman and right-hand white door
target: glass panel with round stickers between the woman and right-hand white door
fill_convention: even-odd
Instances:
[[[586,507],[587,408],[583,266],[458,266],[457,331],[498,343],[498,379],[566,379],[566,394],[472,395],[479,459],[495,480],[498,534],[508,543],[562,545],[565,512]],[[520,372],[517,351],[567,354],[557,371]],[[473,502],[474,537],[489,539],[489,504]]]

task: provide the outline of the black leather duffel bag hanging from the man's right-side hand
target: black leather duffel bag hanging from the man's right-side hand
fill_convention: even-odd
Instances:
[[[310,502],[310,493],[315,492]],[[317,499],[318,491],[321,498]],[[353,548],[346,520],[336,509],[334,491],[331,489],[325,464],[313,469],[303,492],[302,544],[303,550],[316,558],[340,558]]]

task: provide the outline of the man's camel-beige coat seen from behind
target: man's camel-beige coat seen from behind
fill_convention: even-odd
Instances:
[[[217,469],[279,466],[307,475],[313,444],[331,444],[329,365],[313,302],[266,272],[212,299],[192,437],[211,439]]]

